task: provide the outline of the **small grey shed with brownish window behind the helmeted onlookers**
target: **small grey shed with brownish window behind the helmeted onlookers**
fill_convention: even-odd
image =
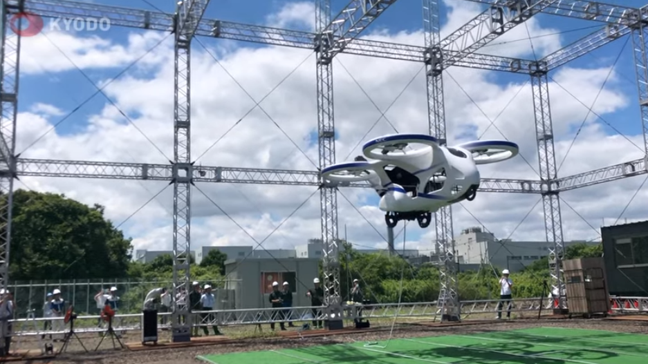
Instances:
[[[270,307],[272,282],[288,282],[293,290],[293,307],[310,306],[306,291],[313,288],[320,260],[317,258],[254,258],[225,261],[225,274],[240,284],[232,287],[239,302],[237,309]]]

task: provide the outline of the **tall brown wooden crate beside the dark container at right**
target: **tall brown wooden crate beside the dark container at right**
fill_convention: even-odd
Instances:
[[[607,314],[610,299],[603,258],[563,261],[570,314]]]

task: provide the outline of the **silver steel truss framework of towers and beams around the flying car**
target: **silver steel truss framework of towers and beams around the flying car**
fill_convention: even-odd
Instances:
[[[547,240],[555,242],[550,268],[552,285],[562,287],[562,221],[558,193],[611,182],[648,173],[648,155],[595,171],[558,178],[553,151],[553,130],[548,102],[548,72],[598,49],[615,39],[632,33],[642,110],[643,134],[648,134],[648,8],[629,8],[582,0],[466,0],[485,3],[489,8],[451,35],[438,35],[438,0],[423,0],[424,46],[409,46],[359,39],[358,36],[389,6],[396,2],[353,0],[331,19],[330,0],[316,0],[317,32],[302,32],[255,26],[228,21],[203,19],[207,0],[185,0],[175,15],[149,10],[118,8],[68,0],[2,0],[1,93],[0,119],[0,286],[8,282],[10,252],[12,181],[19,176],[62,178],[107,178],[131,180],[165,180],[174,184],[174,290],[189,282],[189,224],[191,220],[191,185],[195,182],[290,184],[319,186],[321,189],[322,241],[325,245],[324,267],[326,300],[329,314],[340,308],[340,269],[337,257],[337,188],[323,184],[319,171],[243,169],[220,166],[194,168],[190,157],[189,48],[194,35],[251,41],[275,46],[310,49],[317,55],[317,108],[320,169],[335,162],[335,124],[333,116],[332,61],[344,52],[352,55],[423,62],[427,68],[429,132],[443,143],[445,111],[443,104],[443,70],[450,66],[520,73],[531,77],[535,107],[541,180],[508,180],[485,178],[479,191],[497,193],[532,193],[542,195],[546,216]],[[84,17],[110,19],[113,26],[125,26],[175,32],[176,79],[174,112],[174,161],[172,164],[34,160],[15,155],[15,122],[18,93],[18,59],[20,37],[10,30],[10,19],[21,12],[41,17]],[[537,13],[597,21],[601,28],[537,61],[483,55],[477,50],[507,30],[519,26]],[[648,142],[645,142],[648,149]],[[366,188],[364,183],[352,188]],[[442,289],[438,305],[446,320],[459,319],[459,298],[454,270],[452,213],[450,209],[436,215],[436,240],[441,250]],[[564,303],[564,298],[562,299]],[[187,334],[187,312],[174,309],[174,340]],[[337,317],[335,317],[337,318]]]

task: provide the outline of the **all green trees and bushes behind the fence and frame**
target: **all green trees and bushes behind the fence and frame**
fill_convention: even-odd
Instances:
[[[5,197],[0,195],[0,198]],[[399,298],[402,302],[436,300],[439,271],[434,265],[411,267],[400,256],[389,256],[386,252],[360,253],[344,240],[340,240],[338,246],[343,297],[348,297],[351,281],[358,278],[365,298],[376,303],[398,302]],[[170,288],[173,258],[165,254],[142,264],[131,262],[131,251],[131,240],[124,238],[122,232],[104,217],[104,208],[100,205],[89,207],[53,193],[15,192],[10,255],[12,280],[138,280],[139,284],[130,285],[121,294],[122,307],[137,312],[149,290],[163,286]],[[600,256],[602,245],[579,243],[565,251],[565,259]],[[194,258],[190,257],[192,280],[223,287],[226,258],[218,249],[210,251],[201,265],[196,265]],[[461,300],[499,296],[497,274],[490,267],[461,272],[458,277]],[[321,262],[320,278],[324,278]],[[546,294],[543,282],[548,278],[547,258],[537,260],[524,271],[512,274],[513,294],[516,297]],[[91,296],[95,293],[91,292]]]

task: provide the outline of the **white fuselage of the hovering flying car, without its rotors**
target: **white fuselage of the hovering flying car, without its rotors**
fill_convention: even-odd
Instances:
[[[426,146],[403,155],[385,156],[380,163],[385,162],[389,164],[385,169],[396,166],[400,174],[399,170],[390,173],[377,169],[370,180],[382,194],[382,211],[435,212],[461,198],[471,186],[479,185],[479,170],[472,153],[457,147],[451,151],[445,146]]]

